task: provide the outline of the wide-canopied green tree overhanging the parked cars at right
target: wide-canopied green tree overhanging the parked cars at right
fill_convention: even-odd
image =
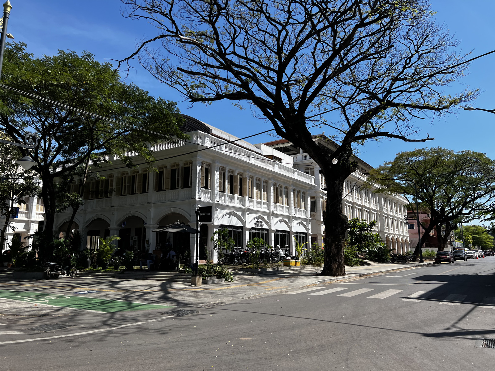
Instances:
[[[494,201],[495,161],[474,151],[421,148],[398,153],[394,160],[372,170],[368,181],[383,185],[379,192],[409,196],[410,210],[416,210],[417,188],[420,208],[431,215],[431,222],[423,224],[421,243],[436,228],[438,248],[443,250],[459,221],[478,218]],[[418,242],[416,255],[419,246]]]

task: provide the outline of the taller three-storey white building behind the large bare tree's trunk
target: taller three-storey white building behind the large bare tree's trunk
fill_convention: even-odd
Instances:
[[[318,145],[327,146],[334,151],[338,148],[337,143],[323,135],[315,135],[313,140]],[[288,140],[275,140],[265,145],[290,155],[294,158],[295,169],[315,177],[316,187],[309,194],[311,242],[321,245],[325,235],[322,210],[326,208],[327,193],[324,190],[325,179],[319,172],[320,167],[307,153]],[[376,220],[375,230],[380,233],[389,248],[405,253],[409,250],[409,233],[407,224],[404,223],[407,199],[399,194],[374,193],[379,185],[373,185],[371,188],[361,187],[372,167],[358,157],[354,160],[358,163],[358,169],[347,178],[344,185],[344,213],[348,219],[359,218],[368,222]]]

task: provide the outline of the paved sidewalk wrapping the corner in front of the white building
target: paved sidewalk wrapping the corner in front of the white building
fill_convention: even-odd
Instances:
[[[83,294],[87,298],[121,300],[143,304],[160,304],[176,307],[209,307],[234,300],[264,297],[270,293],[283,292],[302,286],[356,279],[384,272],[418,268],[430,264],[373,264],[371,266],[346,267],[346,276],[342,277],[318,276],[321,268],[300,273],[284,273],[273,276],[234,271],[234,282],[222,282],[200,287],[191,286],[188,282],[108,277],[59,278],[55,280],[14,280],[4,278],[0,280],[0,290],[43,292],[70,296]],[[3,302],[2,304],[5,303]],[[22,306],[7,307],[0,305],[2,313],[8,311],[13,314],[22,310]],[[31,311],[35,310],[32,305],[30,309]],[[42,308],[42,306],[36,308],[36,312],[47,314],[53,310],[53,308]]]

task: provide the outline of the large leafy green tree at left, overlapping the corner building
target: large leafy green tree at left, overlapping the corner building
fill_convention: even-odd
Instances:
[[[9,44],[2,84],[8,87],[0,90],[0,126],[5,133],[22,138],[29,130],[40,137],[31,156],[38,163],[33,171],[42,181],[47,256],[53,249],[57,199],[65,192],[56,179],[73,176],[82,166],[84,188],[90,159],[98,162],[101,156],[115,154],[132,166],[132,153],[151,163],[149,143],[174,140],[169,136],[185,138],[175,103],[123,83],[111,64],[98,62],[89,52],[60,50],[57,55],[34,57],[25,44]]]

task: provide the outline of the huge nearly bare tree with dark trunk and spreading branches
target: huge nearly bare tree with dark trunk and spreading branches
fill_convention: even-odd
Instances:
[[[344,182],[353,146],[418,137],[415,119],[434,118],[476,92],[447,95],[469,62],[433,21],[425,0],[122,0],[126,16],[158,34],[137,57],[191,102],[247,102],[277,135],[304,149],[327,183],[323,275],[344,269]],[[327,114],[327,115],[326,115]],[[332,152],[311,130],[326,126]]]

